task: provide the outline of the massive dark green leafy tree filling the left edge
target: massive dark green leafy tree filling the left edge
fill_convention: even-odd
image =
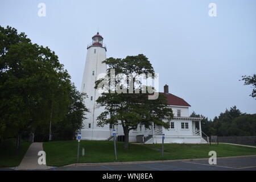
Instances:
[[[0,26],[0,135],[17,138],[67,117],[72,84],[48,47],[32,44],[24,33]],[[11,132],[10,132],[11,131]]]

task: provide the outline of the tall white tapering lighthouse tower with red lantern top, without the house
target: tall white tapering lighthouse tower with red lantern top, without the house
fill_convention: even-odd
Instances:
[[[97,89],[94,89],[97,76],[101,73],[106,73],[106,64],[102,63],[102,61],[106,60],[106,47],[102,41],[102,36],[97,32],[92,37],[92,43],[87,46],[81,87],[81,92],[88,95],[84,102],[85,106],[90,110],[90,113],[86,113],[85,117],[87,119],[84,120],[84,128],[81,130],[81,139],[85,140],[105,140],[110,137],[109,125],[104,127],[97,126],[97,117],[104,111],[104,107],[99,107],[96,103],[101,94]]]

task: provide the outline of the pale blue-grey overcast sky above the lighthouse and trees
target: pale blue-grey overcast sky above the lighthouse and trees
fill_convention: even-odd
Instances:
[[[217,16],[208,15],[216,3]],[[38,16],[38,4],[46,16]],[[59,56],[80,90],[86,45],[99,30],[107,57],[143,53],[159,73],[160,92],[184,98],[209,118],[234,105],[256,113],[250,86],[256,73],[256,1],[253,0],[1,0],[0,25],[25,32]]]

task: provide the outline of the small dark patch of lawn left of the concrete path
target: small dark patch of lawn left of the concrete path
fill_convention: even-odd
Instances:
[[[15,139],[3,140],[3,143],[0,146],[0,167],[19,166],[31,144],[30,142],[22,142],[20,144],[19,154],[17,154],[15,142]]]

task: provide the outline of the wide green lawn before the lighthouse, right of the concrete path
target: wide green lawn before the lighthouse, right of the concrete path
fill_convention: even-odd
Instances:
[[[85,148],[85,156],[80,163],[114,162],[113,141],[81,140],[80,149]],[[161,156],[161,144],[129,144],[129,150],[123,150],[123,143],[117,142],[118,162],[142,160],[168,160],[209,158],[209,151],[216,151],[217,157],[256,155],[256,148],[233,146],[230,144],[164,144],[164,158]],[[43,143],[48,166],[65,166],[76,163],[77,141]],[[81,154],[81,152],[80,152]]]

